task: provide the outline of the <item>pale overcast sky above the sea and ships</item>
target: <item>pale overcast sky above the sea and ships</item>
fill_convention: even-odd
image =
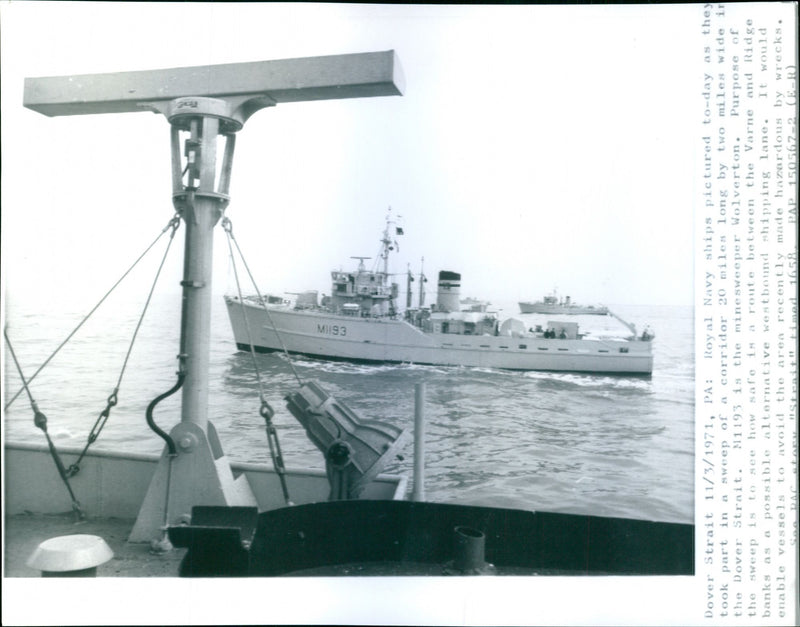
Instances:
[[[227,215],[262,291],[327,292],[376,256],[391,206],[391,269],[424,256],[464,296],[691,304],[700,11],[4,5],[9,293],[94,302],[172,215],[163,116],[48,118],[22,107],[24,77],[394,49],[404,96],[283,104],[239,133]],[[219,293],[228,266],[219,230]]]

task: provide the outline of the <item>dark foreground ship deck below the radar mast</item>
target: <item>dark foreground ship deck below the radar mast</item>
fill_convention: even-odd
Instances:
[[[685,575],[694,569],[693,525],[412,502],[401,500],[404,481],[385,475],[364,500],[326,501],[323,473],[308,471],[292,475],[302,501],[285,507],[276,478],[252,465],[238,470],[266,488],[258,507],[195,508],[191,520],[170,527],[176,548],[156,555],[148,543],[128,541],[154,456],[87,458],[75,488],[90,504],[89,515],[79,521],[64,513],[68,499],[57,484],[42,491],[39,482],[55,473],[45,447],[5,450],[15,489],[5,517],[8,577],[39,576],[27,565],[34,549],[73,534],[99,536],[113,551],[98,566],[99,577]],[[136,480],[125,481],[129,476]],[[35,489],[20,492],[23,483]]]

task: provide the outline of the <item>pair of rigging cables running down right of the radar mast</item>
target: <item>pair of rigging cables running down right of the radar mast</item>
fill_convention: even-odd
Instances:
[[[275,468],[275,472],[278,474],[278,478],[281,482],[281,490],[283,491],[283,498],[288,505],[292,505],[292,501],[289,498],[289,490],[286,486],[286,467],[283,463],[283,455],[281,453],[281,446],[280,442],[278,441],[278,432],[275,429],[275,425],[272,423],[272,417],[275,415],[275,410],[272,409],[272,406],[267,401],[266,394],[264,393],[264,385],[263,381],[261,380],[261,371],[258,368],[258,360],[256,359],[256,350],[255,346],[253,345],[253,336],[250,332],[250,321],[247,318],[247,311],[245,310],[244,306],[244,299],[242,297],[242,287],[239,282],[239,272],[236,269],[236,259],[233,255],[233,246],[236,246],[236,250],[239,253],[239,257],[244,264],[245,270],[247,270],[247,274],[250,277],[250,281],[253,283],[253,287],[256,290],[256,294],[258,295],[258,300],[261,305],[264,307],[264,311],[267,313],[267,317],[269,318],[270,324],[272,325],[275,334],[278,336],[278,340],[281,343],[281,347],[283,348],[283,352],[286,354],[287,360],[289,362],[289,366],[294,373],[295,378],[297,379],[298,383],[302,386],[303,381],[300,379],[300,375],[297,373],[297,370],[294,367],[294,363],[292,363],[292,357],[289,355],[289,351],[286,350],[286,345],[283,343],[283,339],[278,333],[278,329],[275,326],[275,323],[272,320],[272,316],[270,315],[269,309],[267,308],[267,303],[264,300],[264,297],[261,295],[261,292],[258,290],[258,286],[256,285],[255,279],[253,278],[253,274],[250,272],[250,268],[247,265],[247,261],[242,254],[241,248],[239,248],[239,243],[236,241],[236,238],[233,235],[233,226],[231,224],[230,219],[226,216],[222,219],[222,228],[225,230],[225,233],[228,236],[228,251],[231,257],[231,264],[233,266],[233,276],[236,280],[236,291],[239,297],[239,304],[242,308],[242,317],[244,318],[245,328],[247,330],[247,343],[250,345],[250,356],[253,359],[253,367],[256,373],[256,380],[258,381],[258,389],[259,389],[259,398],[261,399],[261,408],[259,413],[261,417],[264,418],[264,421],[267,425],[267,442],[269,444],[269,453],[270,457],[272,458],[272,465]]]

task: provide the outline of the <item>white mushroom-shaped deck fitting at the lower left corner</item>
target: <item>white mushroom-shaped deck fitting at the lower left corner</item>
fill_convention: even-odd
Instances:
[[[94,577],[97,567],[114,557],[99,536],[75,534],[42,542],[28,558],[28,566],[42,577]]]

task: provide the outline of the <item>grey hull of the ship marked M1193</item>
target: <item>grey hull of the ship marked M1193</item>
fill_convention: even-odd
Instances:
[[[331,360],[507,370],[649,375],[653,369],[652,346],[645,341],[424,333],[400,319],[284,307],[270,307],[267,315],[232,297],[226,304],[243,350],[252,344],[259,352],[285,349]]]

